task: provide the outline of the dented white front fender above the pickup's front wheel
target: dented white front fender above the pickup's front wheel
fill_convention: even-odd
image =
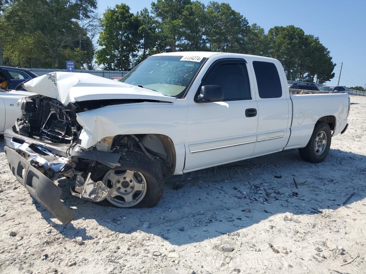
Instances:
[[[90,148],[105,137],[122,134],[163,134],[175,145],[184,144],[187,128],[185,100],[106,106],[77,115],[83,127],[79,145]]]

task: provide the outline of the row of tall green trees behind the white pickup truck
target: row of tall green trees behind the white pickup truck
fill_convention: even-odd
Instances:
[[[289,80],[334,77],[329,50],[293,25],[268,33],[227,3],[156,0],[136,13],[96,0],[0,0],[0,65],[130,70],[161,52],[217,51],[279,59]]]

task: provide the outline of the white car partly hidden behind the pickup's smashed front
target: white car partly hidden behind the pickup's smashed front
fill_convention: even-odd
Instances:
[[[5,90],[0,88],[0,135],[4,130],[14,126],[20,116],[16,102],[23,97],[35,95],[33,92],[21,90]]]

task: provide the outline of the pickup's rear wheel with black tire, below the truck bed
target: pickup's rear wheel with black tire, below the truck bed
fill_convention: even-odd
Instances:
[[[324,134],[326,136],[326,144],[322,147],[320,141],[324,141]],[[320,137],[321,140],[318,138],[319,136],[322,136]],[[328,155],[331,142],[332,133],[329,125],[325,122],[317,123],[305,148],[299,148],[300,157],[310,163],[320,163]]]

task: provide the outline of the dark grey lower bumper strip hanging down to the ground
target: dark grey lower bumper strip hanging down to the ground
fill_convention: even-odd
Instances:
[[[8,146],[4,147],[11,172],[29,193],[64,225],[71,222],[76,214],[61,202],[61,189],[38,171],[26,160]]]

